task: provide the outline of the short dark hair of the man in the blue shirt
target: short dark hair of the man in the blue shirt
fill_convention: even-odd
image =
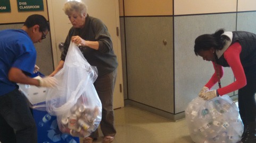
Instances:
[[[34,25],[39,25],[40,32],[45,30],[49,31],[49,24],[43,15],[33,14],[28,16],[24,23],[24,26],[27,26],[27,28],[31,28]]]

